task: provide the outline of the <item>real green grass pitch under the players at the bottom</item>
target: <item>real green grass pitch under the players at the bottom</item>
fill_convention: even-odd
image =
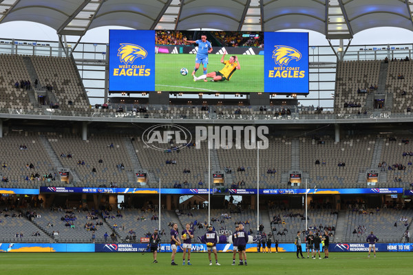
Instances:
[[[209,266],[206,253],[193,253],[192,266],[171,266],[171,254],[159,253],[159,263],[152,263],[146,253],[1,253],[1,274],[41,275],[127,275],[127,274],[411,274],[412,253],[383,252],[377,258],[367,253],[330,253],[330,259],[296,259],[295,253],[248,253],[248,266],[232,266],[232,253],[218,254],[221,266]]]

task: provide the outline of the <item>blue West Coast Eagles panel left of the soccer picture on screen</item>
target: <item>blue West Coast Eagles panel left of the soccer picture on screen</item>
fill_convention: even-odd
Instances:
[[[154,91],[155,31],[109,31],[109,90]]]

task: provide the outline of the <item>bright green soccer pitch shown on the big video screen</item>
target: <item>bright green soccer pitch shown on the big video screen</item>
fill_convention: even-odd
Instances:
[[[220,62],[222,55],[210,54],[208,72],[219,71],[224,67]],[[230,55],[226,55],[229,59]],[[191,72],[195,67],[195,54],[157,54],[156,55],[156,91],[195,91],[195,92],[264,92],[264,56],[239,55],[241,69],[235,71],[230,81],[218,83],[193,82]],[[180,69],[188,69],[188,75],[182,76]],[[202,65],[195,74],[202,75]],[[211,78],[209,78],[211,80]]]

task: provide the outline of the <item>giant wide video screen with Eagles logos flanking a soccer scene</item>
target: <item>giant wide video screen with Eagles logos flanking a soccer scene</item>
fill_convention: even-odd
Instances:
[[[308,94],[308,83],[308,33],[109,31],[109,91]]]

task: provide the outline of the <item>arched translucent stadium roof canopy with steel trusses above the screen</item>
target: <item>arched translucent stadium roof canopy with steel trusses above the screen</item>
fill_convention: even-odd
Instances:
[[[119,25],[138,30],[304,29],[351,39],[374,27],[413,30],[413,0],[0,0],[0,23],[31,21],[60,35]]]

